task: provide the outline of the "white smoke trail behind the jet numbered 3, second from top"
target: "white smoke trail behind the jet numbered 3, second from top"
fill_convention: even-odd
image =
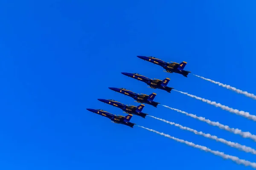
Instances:
[[[174,91],[177,91],[177,90],[174,90]],[[219,107],[219,108],[221,108],[221,109],[223,109],[225,111],[229,111],[230,113],[235,113],[237,115],[244,116],[247,119],[251,119],[253,121],[256,121],[256,116],[251,115],[249,112],[239,111],[237,109],[233,109],[233,108],[230,108],[228,106],[221,105],[220,103],[212,102],[212,101],[210,101],[208,99],[203,99],[201,97],[198,97],[198,96],[195,96],[195,95],[192,95],[192,94],[188,94],[188,93],[185,93],[185,92],[182,92],[182,91],[177,91],[177,92],[180,92],[181,94],[186,94],[187,96],[193,97],[193,98],[201,100],[203,102],[207,102],[210,105],[214,105],[215,107]]]

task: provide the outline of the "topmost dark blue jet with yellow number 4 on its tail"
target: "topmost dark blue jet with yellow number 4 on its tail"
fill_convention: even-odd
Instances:
[[[183,75],[184,77],[187,77],[187,75],[191,73],[190,71],[183,70],[187,64],[187,62],[184,62],[184,61],[179,64],[177,62],[172,62],[172,63],[165,62],[155,57],[146,57],[146,56],[137,56],[137,57],[139,57],[140,59],[152,62],[154,64],[160,65],[161,67],[166,69],[165,72],[168,72],[168,73],[178,73]]]

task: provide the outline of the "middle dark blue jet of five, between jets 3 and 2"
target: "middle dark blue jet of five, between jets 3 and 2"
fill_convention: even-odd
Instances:
[[[158,102],[153,101],[155,96],[157,95],[155,93],[152,93],[150,95],[146,95],[146,94],[137,94],[137,93],[134,93],[132,91],[126,90],[125,88],[109,88],[109,89],[111,89],[113,91],[116,91],[118,93],[130,96],[134,100],[136,100],[135,102],[138,102],[138,103],[146,103],[146,104],[152,105],[156,108],[157,108],[157,105],[160,104]]]

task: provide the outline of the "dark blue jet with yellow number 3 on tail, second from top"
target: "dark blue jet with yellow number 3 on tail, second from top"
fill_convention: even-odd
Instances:
[[[140,80],[142,82],[145,82],[147,85],[149,85],[149,88],[158,88],[158,89],[162,89],[164,91],[167,91],[168,93],[171,93],[172,89],[174,88],[170,88],[167,86],[167,84],[169,83],[170,79],[166,78],[163,80],[160,79],[149,79],[148,77],[145,77],[143,75],[140,75],[138,73],[124,73],[122,72],[122,74],[124,74],[125,76],[128,77],[132,77],[134,79]]]

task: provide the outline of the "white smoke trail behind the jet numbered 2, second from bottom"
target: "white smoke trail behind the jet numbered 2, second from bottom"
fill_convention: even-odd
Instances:
[[[224,144],[227,144],[229,145],[230,147],[235,147],[237,149],[240,149],[240,150],[243,150],[244,152],[250,152],[250,153],[253,153],[256,155],[256,150],[254,150],[253,148],[251,147],[247,147],[245,145],[241,145],[239,143],[235,143],[235,142],[231,142],[231,141],[227,141],[225,139],[221,139],[221,138],[218,138],[217,136],[212,136],[211,134],[206,134],[206,133],[203,133],[203,132],[198,132],[197,130],[194,130],[194,129],[191,129],[189,127],[184,127],[182,125],[179,125],[177,123],[174,123],[174,122],[169,122],[167,120],[164,120],[164,119],[160,119],[160,118],[157,118],[157,117],[154,117],[154,116],[150,116],[154,119],[157,119],[157,120],[160,120],[160,121],[163,121],[163,122],[166,122],[166,123],[169,123],[170,125],[175,125],[177,127],[179,127],[180,129],[183,129],[183,130],[188,130],[190,132],[193,132],[195,133],[196,135],[201,135],[201,136],[204,136],[204,137],[207,137],[209,139],[214,139],[215,141],[217,142],[221,142],[221,143],[224,143]]]

